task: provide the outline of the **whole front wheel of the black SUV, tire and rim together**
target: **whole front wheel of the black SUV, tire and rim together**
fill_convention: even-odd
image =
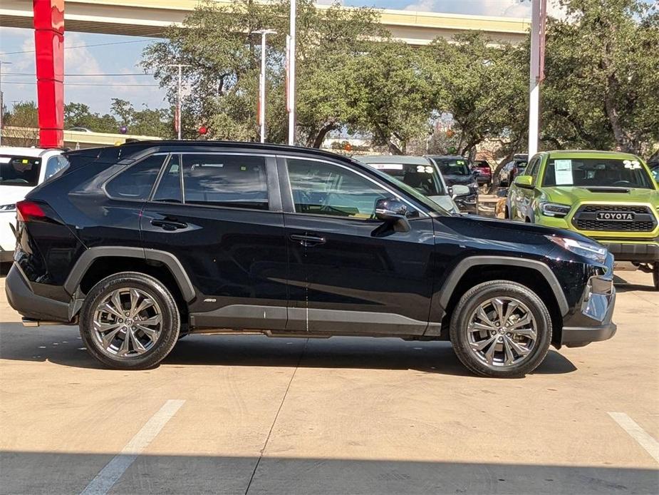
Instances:
[[[455,354],[484,377],[522,377],[542,362],[551,342],[551,316],[528,287],[492,280],[457,303],[450,337]]]

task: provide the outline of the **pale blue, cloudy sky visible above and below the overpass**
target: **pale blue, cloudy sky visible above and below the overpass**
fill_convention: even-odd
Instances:
[[[530,11],[529,0],[344,0],[343,4],[485,16],[522,17],[529,16]],[[90,46],[112,43],[119,44]],[[110,98],[129,100],[136,108],[165,106],[165,91],[153,86],[156,83],[151,76],[139,75],[142,73],[140,53],[147,44],[148,40],[133,36],[66,31],[66,102],[86,103],[99,113],[109,111]],[[15,101],[36,101],[33,50],[31,29],[0,28],[0,60],[11,62],[11,65],[3,64],[1,80],[4,102],[9,108]],[[96,76],[100,73],[125,75]]]

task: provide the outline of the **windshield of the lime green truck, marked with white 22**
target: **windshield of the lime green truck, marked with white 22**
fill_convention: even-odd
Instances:
[[[638,160],[612,158],[556,158],[549,160],[543,185],[653,189]]]

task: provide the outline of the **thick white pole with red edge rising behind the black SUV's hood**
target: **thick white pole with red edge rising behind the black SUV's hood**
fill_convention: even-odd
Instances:
[[[544,29],[547,0],[531,0],[531,74],[529,78],[529,160],[538,152],[540,83],[544,79]]]

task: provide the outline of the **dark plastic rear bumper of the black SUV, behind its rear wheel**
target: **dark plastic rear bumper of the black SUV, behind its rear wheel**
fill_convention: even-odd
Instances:
[[[68,323],[69,305],[35,294],[16,263],[11,265],[5,280],[5,292],[9,305],[24,317],[32,320],[48,320]]]

